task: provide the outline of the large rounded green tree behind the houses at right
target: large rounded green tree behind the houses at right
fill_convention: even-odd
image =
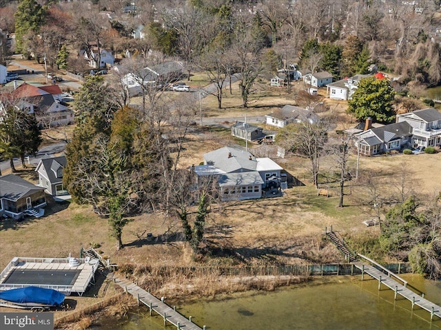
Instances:
[[[347,112],[355,115],[360,121],[371,117],[376,122],[392,122],[396,115],[392,108],[394,98],[395,91],[389,80],[370,76],[358,83],[358,88],[348,101]]]

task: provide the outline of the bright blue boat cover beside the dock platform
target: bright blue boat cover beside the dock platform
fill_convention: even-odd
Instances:
[[[43,287],[23,287],[0,292],[0,299],[12,303],[38,303],[54,306],[63,303],[64,294]]]

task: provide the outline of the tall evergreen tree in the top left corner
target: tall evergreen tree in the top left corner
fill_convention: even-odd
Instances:
[[[35,0],[20,0],[15,12],[15,51],[23,52],[23,37],[26,33],[38,32],[45,22],[46,8]]]

